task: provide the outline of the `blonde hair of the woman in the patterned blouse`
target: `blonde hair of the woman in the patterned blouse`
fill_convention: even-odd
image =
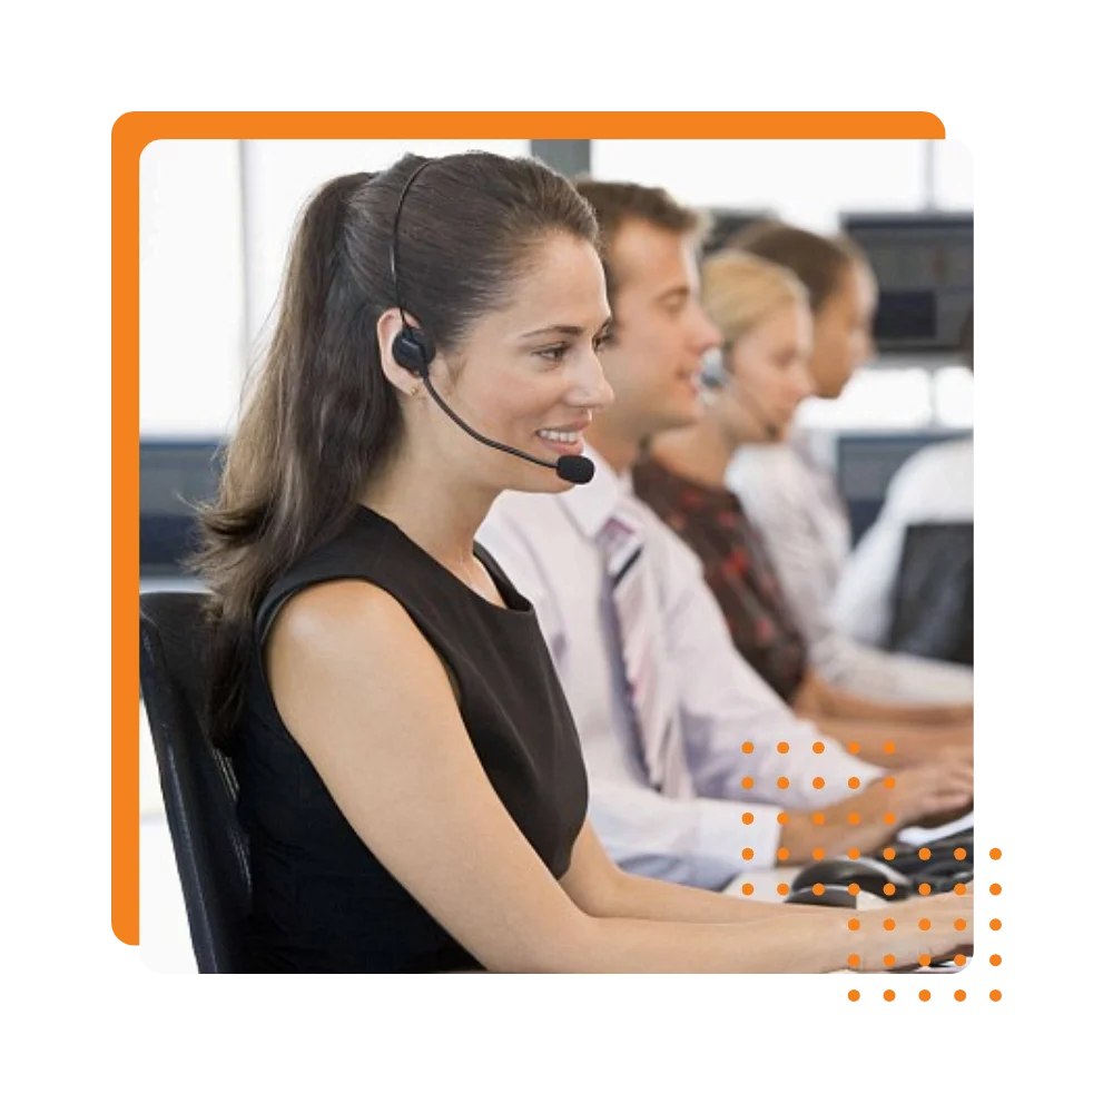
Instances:
[[[703,308],[728,349],[782,305],[809,307],[807,287],[791,270],[735,248],[705,259],[702,287]]]

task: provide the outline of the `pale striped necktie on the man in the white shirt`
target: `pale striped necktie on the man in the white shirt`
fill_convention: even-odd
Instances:
[[[677,692],[661,659],[660,603],[638,520],[621,510],[599,534],[622,642],[627,701],[650,784],[666,796],[691,795]]]

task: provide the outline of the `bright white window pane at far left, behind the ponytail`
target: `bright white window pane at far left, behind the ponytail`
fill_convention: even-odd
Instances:
[[[243,363],[239,157],[159,139],[139,159],[139,431],[223,431]]]

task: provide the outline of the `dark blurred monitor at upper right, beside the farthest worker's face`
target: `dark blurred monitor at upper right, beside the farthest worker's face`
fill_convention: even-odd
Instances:
[[[844,213],[839,226],[877,276],[878,353],[958,355],[978,294],[977,214]]]

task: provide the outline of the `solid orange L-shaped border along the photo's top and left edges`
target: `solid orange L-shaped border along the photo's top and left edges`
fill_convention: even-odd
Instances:
[[[139,946],[139,158],[157,139],[945,139],[934,111],[131,110],[111,125],[110,930]]]

